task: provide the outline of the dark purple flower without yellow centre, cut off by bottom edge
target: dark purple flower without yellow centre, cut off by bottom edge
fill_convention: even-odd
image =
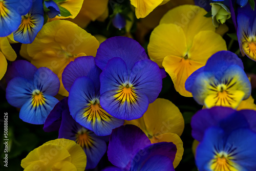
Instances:
[[[110,136],[107,153],[116,167],[109,170],[174,170],[176,151],[172,142],[151,144],[137,126],[120,126]]]

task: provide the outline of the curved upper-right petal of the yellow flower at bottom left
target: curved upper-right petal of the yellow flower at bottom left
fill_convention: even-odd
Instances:
[[[70,157],[72,158],[71,163],[75,165],[77,171],[84,171],[84,169],[86,168],[86,154],[84,153],[82,147],[78,145],[75,141],[60,138],[48,141],[45,144],[57,144],[67,149]]]

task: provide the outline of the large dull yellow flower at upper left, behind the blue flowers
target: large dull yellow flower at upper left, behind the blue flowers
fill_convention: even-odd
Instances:
[[[37,68],[47,67],[57,74],[59,94],[68,96],[61,81],[63,70],[79,56],[95,56],[98,47],[98,40],[74,23],[55,20],[45,24],[31,44],[22,46],[21,52]]]

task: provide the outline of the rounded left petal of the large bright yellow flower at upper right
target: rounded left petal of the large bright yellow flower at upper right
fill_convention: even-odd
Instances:
[[[183,30],[174,24],[162,24],[157,26],[151,33],[147,51],[148,56],[150,56],[159,67],[163,67],[162,62],[167,55],[185,56],[187,46]]]

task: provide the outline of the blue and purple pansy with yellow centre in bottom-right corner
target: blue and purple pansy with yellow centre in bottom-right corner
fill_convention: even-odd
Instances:
[[[196,113],[191,126],[193,137],[200,141],[196,151],[199,170],[254,170],[255,115],[252,110],[221,106]]]

